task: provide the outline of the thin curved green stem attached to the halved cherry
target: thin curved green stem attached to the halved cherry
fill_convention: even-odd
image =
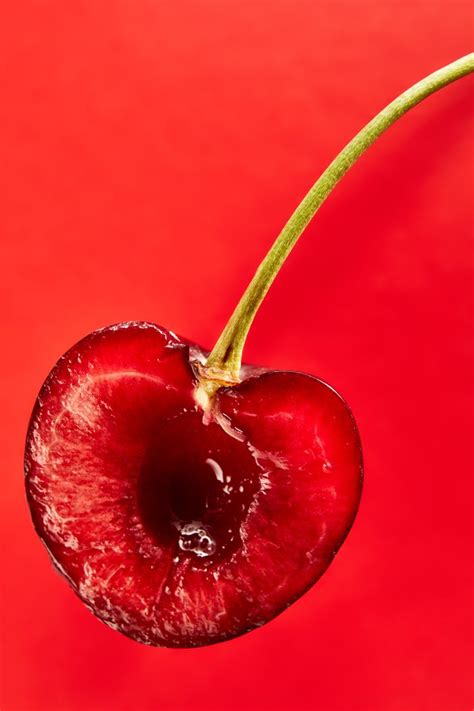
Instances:
[[[217,387],[239,382],[242,351],[260,304],[298,238],[349,168],[403,114],[473,71],[474,53],[433,72],[388,104],[336,156],[298,205],[260,264],[207,359],[202,373],[206,379],[214,381]]]

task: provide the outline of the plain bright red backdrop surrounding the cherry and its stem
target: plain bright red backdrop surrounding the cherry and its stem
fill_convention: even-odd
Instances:
[[[17,0],[1,14],[2,711],[470,708],[470,80],[347,176],[248,341],[248,361],[332,383],[363,438],[359,516],[302,600],[230,643],[141,647],[52,571],[22,483],[56,358],[127,319],[211,346],[336,152],[469,50],[469,3]]]

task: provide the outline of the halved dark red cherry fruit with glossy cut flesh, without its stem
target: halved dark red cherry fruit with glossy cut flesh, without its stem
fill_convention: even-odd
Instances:
[[[271,620],[324,573],[361,494],[357,427],[330,386],[245,368],[206,415],[198,354],[150,323],[96,331],[58,361],[28,431],[27,496],[53,563],[145,644]]]

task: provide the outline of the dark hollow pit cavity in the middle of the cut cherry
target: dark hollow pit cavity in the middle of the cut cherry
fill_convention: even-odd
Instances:
[[[200,413],[169,420],[150,443],[138,481],[143,525],[160,545],[203,565],[241,545],[261,469],[247,444]]]

